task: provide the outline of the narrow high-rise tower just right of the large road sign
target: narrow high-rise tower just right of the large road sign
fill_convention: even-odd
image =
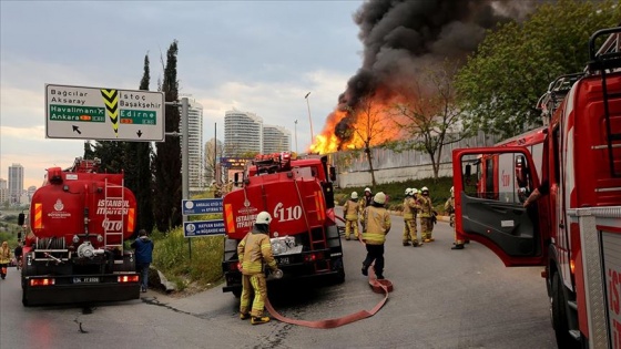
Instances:
[[[187,166],[190,192],[205,189],[205,170],[203,161],[203,105],[195,99],[189,97],[187,109]],[[181,110],[180,110],[181,111]],[[183,123],[183,120],[181,120]],[[180,124],[182,130],[182,124]]]

